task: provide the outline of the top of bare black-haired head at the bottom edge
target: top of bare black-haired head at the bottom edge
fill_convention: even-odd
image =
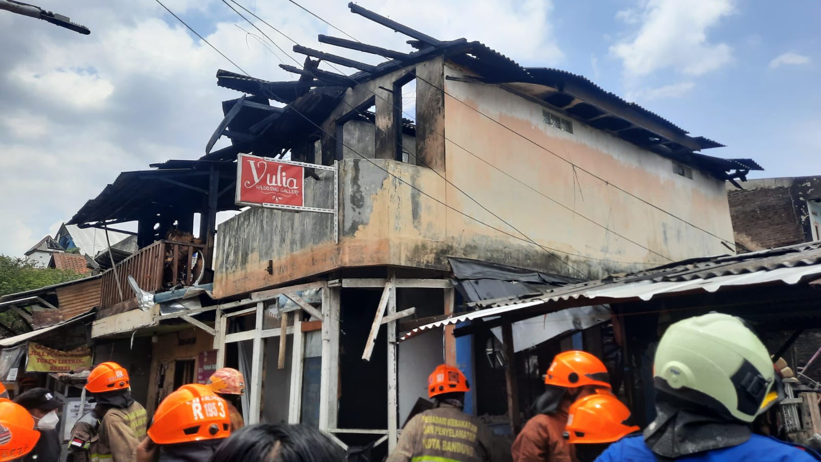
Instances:
[[[209,462],[345,462],[345,451],[323,432],[298,424],[259,423],[222,442]]]

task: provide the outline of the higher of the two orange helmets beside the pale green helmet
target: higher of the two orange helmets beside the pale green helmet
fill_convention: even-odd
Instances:
[[[564,388],[585,385],[611,388],[608,368],[594,355],[586,351],[571,350],[558,353],[544,376],[544,383]]]

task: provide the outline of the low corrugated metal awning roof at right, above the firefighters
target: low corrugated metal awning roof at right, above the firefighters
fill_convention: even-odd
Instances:
[[[488,316],[502,316],[525,308],[557,309],[605,303],[648,301],[683,293],[713,293],[727,287],[760,284],[799,284],[821,278],[821,242],[801,243],[761,252],[680,261],[602,280],[545,289],[534,296],[484,300],[471,303],[484,309],[461,313],[410,330],[406,340],[424,330]],[[538,313],[536,313],[538,314]]]

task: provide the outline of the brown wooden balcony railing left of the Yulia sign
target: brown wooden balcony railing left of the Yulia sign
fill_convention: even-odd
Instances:
[[[117,303],[135,299],[134,291],[128,285],[128,276],[137,281],[140,289],[154,293],[194,284],[202,271],[204,248],[204,244],[172,241],[157,241],[141,248],[117,263],[116,278],[113,269],[103,273],[100,309],[105,310]]]

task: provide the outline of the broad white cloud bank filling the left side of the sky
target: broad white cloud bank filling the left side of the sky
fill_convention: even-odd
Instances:
[[[383,61],[317,43],[318,34],[344,35],[296,6],[239,1],[300,44]],[[296,78],[279,69],[280,58],[236,27],[261,35],[224,3],[164,3],[252,76]],[[365,43],[412,51],[408,37],[351,14],[347,2],[301,3]],[[549,66],[562,59],[548,0],[360,4],[438,39],[482,41],[525,64]],[[91,35],[0,11],[0,253],[21,255],[122,171],[200,157],[222,119],[220,102],[240,96],[219,88],[214,78],[218,68],[236,71],[232,64],[156,2],[75,0],[55,10],[89,26]],[[258,26],[304,60],[282,35]],[[267,47],[282,54],[272,44]],[[333,71],[327,63],[322,67]]]

